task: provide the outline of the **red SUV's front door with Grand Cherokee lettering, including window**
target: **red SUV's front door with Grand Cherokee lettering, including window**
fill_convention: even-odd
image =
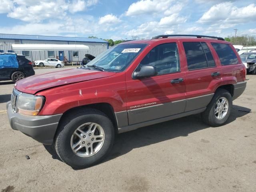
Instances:
[[[136,68],[140,70],[142,65],[153,65],[158,75],[139,80],[126,75],[126,105],[130,125],[184,112],[186,75],[180,70],[177,43],[155,46]]]

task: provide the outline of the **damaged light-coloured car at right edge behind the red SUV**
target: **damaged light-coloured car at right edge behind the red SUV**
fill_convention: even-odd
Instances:
[[[245,52],[240,55],[242,62],[246,66],[247,73],[256,75],[256,52]]]

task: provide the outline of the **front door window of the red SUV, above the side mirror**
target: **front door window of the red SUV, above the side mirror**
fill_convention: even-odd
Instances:
[[[165,43],[154,47],[140,62],[136,70],[142,65],[155,66],[158,75],[180,71],[180,60],[176,43]]]

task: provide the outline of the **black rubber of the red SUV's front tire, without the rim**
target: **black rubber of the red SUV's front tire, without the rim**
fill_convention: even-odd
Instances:
[[[99,124],[105,134],[104,143],[100,150],[90,157],[80,157],[71,148],[71,137],[76,128],[86,122]],[[55,137],[55,150],[60,159],[72,168],[82,169],[102,161],[110,152],[114,143],[114,126],[112,121],[102,112],[95,109],[80,109],[65,116],[58,127]]]

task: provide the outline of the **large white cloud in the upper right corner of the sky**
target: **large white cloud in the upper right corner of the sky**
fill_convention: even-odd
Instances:
[[[245,7],[236,7],[231,2],[224,2],[212,6],[198,20],[202,24],[238,24],[250,22],[256,17],[256,6],[250,4]]]

